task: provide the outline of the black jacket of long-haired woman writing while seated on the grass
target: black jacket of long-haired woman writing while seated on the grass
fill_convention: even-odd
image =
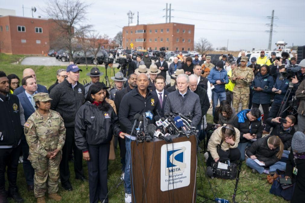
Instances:
[[[268,138],[270,137],[271,135],[268,135],[253,142],[252,145],[247,149],[247,156],[250,157],[255,155],[257,159],[264,162],[266,166],[271,166],[278,162],[280,159],[276,157],[276,154],[279,152],[280,147],[277,147],[274,150],[269,149],[267,142]]]

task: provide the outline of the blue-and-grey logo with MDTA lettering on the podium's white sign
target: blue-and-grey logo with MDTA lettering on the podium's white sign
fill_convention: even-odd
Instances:
[[[182,173],[186,168],[184,163],[184,152],[186,148],[168,150],[166,153],[166,175]]]

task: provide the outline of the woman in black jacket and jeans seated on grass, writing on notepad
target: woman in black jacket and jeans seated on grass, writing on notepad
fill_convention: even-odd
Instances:
[[[260,174],[272,174],[277,169],[285,170],[286,163],[279,161],[282,157],[283,149],[284,145],[278,136],[268,135],[259,138],[248,148],[246,155],[249,158],[246,160],[246,164],[252,168],[252,173],[257,171]]]

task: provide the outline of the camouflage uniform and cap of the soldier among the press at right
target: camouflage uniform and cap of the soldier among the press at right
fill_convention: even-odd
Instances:
[[[246,57],[246,56],[245,56]],[[248,57],[246,57],[248,61]],[[245,60],[245,58],[244,58]],[[239,109],[239,103],[242,103],[242,110],[248,109],[249,106],[249,98],[250,98],[250,83],[253,80],[253,71],[251,68],[245,67],[237,67],[234,69],[232,73],[232,77],[242,76],[245,78],[246,81],[237,79],[235,81],[232,81],[235,83],[234,89],[233,89],[233,107],[235,108],[235,111],[238,112]]]

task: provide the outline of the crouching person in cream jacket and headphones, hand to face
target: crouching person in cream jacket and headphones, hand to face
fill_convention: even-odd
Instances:
[[[207,172],[211,170],[209,168],[211,164],[219,159],[230,159],[231,163],[236,163],[239,160],[240,152],[237,149],[239,136],[239,130],[230,124],[217,128],[213,132],[208,142]]]

